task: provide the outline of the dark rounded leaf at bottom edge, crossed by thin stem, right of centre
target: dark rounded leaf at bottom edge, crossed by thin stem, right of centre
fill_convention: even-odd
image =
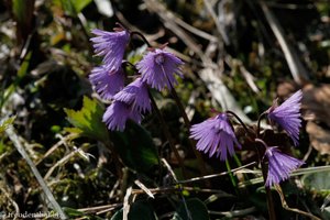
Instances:
[[[187,208],[190,212],[193,220],[209,220],[208,209],[205,204],[198,198],[191,198],[186,200]],[[175,212],[173,220],[186,220],[189,219],[185,205],[182,204],[178,210]]]

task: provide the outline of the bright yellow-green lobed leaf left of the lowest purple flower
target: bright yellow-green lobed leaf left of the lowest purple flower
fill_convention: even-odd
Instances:
[[[67,120],[75,127],[66,129],[102,142],[108,141],[108,130],[102,122],[103,108],[96,99],[84,97],[82,108],[79,111],[64,109]]]

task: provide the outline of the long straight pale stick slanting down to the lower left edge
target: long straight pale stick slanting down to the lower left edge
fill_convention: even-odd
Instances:
[[[19,153],[22,155],[22,157],[26,161],[26,163],[29,164],[30,168],[32,169],[32,173],[34,174],[36,180],[38,182],[38,184],[41,185],[43,191],[45,193],[48,201],[51,202],[51,205],[53,206],[54,210],[59,215],[61,219],[67,219],[67,217],[65,216],[64,211],[62,210],[61,206],[57,204],[57,201],[55,200],[51,189],[48,188],[47,184],[45,183],[45,180],[43,179],[43,177],[41,176],[41,174],[38,173],[37,168],[35,167],[35,165],[33,164],[32,160],[30,158],[30,156],[28,155],[28,153],[25,152],[24,147],[22,146],[21,142],[19,141],[19,135],[14,132],[12,125],[9,127],[6,130],[7,135],[9,136],[9,139],[12,141],[13,145],[16,147],[16,150],[19,151]]]

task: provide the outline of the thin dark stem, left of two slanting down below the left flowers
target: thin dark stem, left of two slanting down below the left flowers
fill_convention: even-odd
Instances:
[[[183,175],[184,175],[184,177],[186,178],[186,169],[185,169],[184,161],[183,161],[183,158],[180,157],[180,155],[179,155],[177,148],[176,148],[175,145],[174,145],[174,141],[173,141],[173,138],[172,138],[172,135],[170,135],[170,133],[169,133],[168,127],[167,127],[166,122],[164,121],[164,118],[163,118],[163,116],[162,116],[162,113],[161,113],[161,111],[160,111],[160,109],[158,109],[158,107],[157,107],[157,103],[156,103],[154,97],[152,96],[152,94],[150,92],[150,90],[148,90],[148,97],[150,97],[150,99],[151,99],[152,107],[153,107],[153,109],[154,109],[154,111],[155,111],[155,113],[156,113],[156,116],[157,116],[157,118],[158,118],[158,120],[160,120],[160,122],[161,122],[161,125],[162,125],[164,135],[166,136],[166,139],[167,139],[167,141],[168,141],[168,144],[169,144],[172,151],[174,152],[175,157],[177,158],[178,164],[179,164],[179,166],[180,166],[180,168],[182,168],[182,170],[183,170]]]

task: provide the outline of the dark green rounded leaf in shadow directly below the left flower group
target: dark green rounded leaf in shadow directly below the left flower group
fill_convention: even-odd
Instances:
[[[152,136],[141,125],[128,121],[123,132],[111,132],[110,138],[116,152],[130,168],[145,173],[158,164]]]

